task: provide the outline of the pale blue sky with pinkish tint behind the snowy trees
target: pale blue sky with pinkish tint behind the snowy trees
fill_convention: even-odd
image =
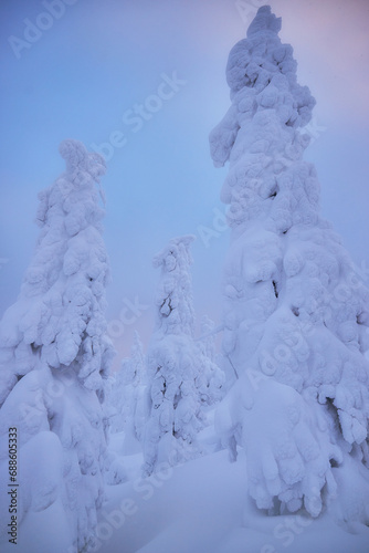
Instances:
[[[172,237],[198,234],[193,288],[199,319],[221,314],[219,289],[228,231],[207,248],[199,227],[213,226],[225,169],[214,169],[211,128],[229,106],[228,54],[244,38],[260,0],[60,0],[64,12],[48,18],[45,4],[0,3],[1,80],[1,313],[15,299],[38,236],[38,191],[63,170],[57,146],[76,138],[89,147],[112,137],[115,147],[103,179],[107,206],[105,240],[112,261],[108,321],[122,310],[133,324],[115,338],[129,349],[137,328],[147,341],[151,311],[129,312],[138,299],[150,305],[158,274],[151,258]],[[298,76],[317,100],[315,140],[306,159],[316,164],[321,213],[333,221],[360,267],[369,252],[368,64],[369,3],[366,0],[272,0],[283,18],[282,40],[293,44]],[[242,13],[241,13],[242,12]],[[21,40],[28,21],[45,29]],[[29,31],[30,32],[30,31]],[[14,45],[17,44],[17,45]],[[27,48],[25,48],[27,46]],[[186,84],[169,96],[162,74]],[[148,102],[141,128],[127,124],[129,109]],[[146,114],[147,112],[145,112]],[[126,121],[123,121],[126,114]],[[324,128],[323,128],[324,127]],[[118,137],[118,138],[117,138]],[[217,211],[215,211],[217,212]],[[127,303],[128,302],[128,303]],[[139,310],[138,310],[139,311]],[[119,334],[119,332],[117,332]]]

